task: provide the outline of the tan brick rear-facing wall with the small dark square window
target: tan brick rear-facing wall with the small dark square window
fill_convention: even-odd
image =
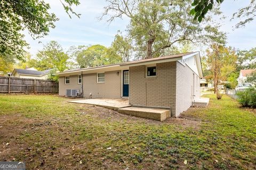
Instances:
[[[129,101],[133,106],[165,107],[175,115],[176,62],[156,64],[156,77],[146,77],[146,66],[129,69]]]

